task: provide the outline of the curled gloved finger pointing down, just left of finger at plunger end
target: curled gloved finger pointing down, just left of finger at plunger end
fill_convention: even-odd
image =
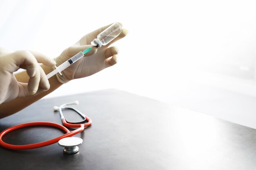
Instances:
[[[35,69],[35,75],[31,76],[29,78],[29,82],[27,85],[28,88],[28,93],[29,95],[34,95],[36,91],[38,90],[39,82],[40,82],[40,70],[39,70],[39,65],[36,65]]]

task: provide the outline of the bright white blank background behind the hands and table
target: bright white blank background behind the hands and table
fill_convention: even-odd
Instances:
[[[117,88],[256,128],[256,3],[251,0],[1,0],[0,46],[54,58],[112,22],[119,62],[46,97]]]

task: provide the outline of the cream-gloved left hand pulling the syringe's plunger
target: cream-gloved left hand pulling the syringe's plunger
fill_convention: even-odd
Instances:
[[[56,63],[49,57],[34,51],[7,51],[0,49],[0,104],[17,97],[34,95],[50,88],[43,69],[43,63],[54,66]],[[19,68],[27,70],[28,83],[18,82],[13,72]]]

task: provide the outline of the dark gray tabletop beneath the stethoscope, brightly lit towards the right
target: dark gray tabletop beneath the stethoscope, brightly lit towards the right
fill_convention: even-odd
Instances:
[[[92,126],[75,135],[83,139],[77,154],[63,154],[58,144],[0,147],[0,170],[256,170],[255,129],[113,89],[42,99],[0,119],[0,131],[32,121],[61,124],[53,106],[74,100],[92,119]],[[10,132],[4,141],[31,144],[62,134],[35,126]]]

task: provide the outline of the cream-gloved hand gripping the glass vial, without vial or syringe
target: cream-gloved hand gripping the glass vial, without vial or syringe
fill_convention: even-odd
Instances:
[[[119,23],[120,24],[120,23]],[[110,24],[111,25],[111,24]],[[108,25],[108,26],[110,26]],[[80,51],[88,49],[92,47],[91,42],[97,35],[101,33],[103,30],[107,29],[108,26],[104,26],[100,29],[97,29],[85,36],[83,36],[78,42],[74,45],[70,46],[69,48],[65,49],[60,56],[56,57],[54,60],[56,61],[56,66],[61,65],[63,62],[70,59],[72,56],[76,55]],[[117,63],[117,54],[118,48],[115,46],[109,47],[112,43],[124,38],[128,34],[128,30],[123,29],[122,33],[112,40],[106,46],[101,46],[101,48],[97,49],[95,46],[85,54],[85,56],[90,57],[83,57],[80,60],[76,61],[74,64],[63,70],[61,73],[62,75],[56,74],[59,82],[67,83],[72,79],[78,79],[81,77],[87,77],[97,73],[104,68],[109,66],[113,66]]]

